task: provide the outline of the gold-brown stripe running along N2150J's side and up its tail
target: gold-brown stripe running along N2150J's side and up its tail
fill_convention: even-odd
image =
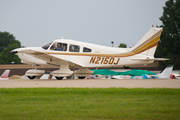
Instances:
[[[73,56],[129,57],[129,56],[133,56],[133,55],[142,53],[148,49],[151,49],[151,48],[157,46],[159,38],[160,38],[160,35],[157,36],[156,38],[154,38],[153,40],[151,40],[152,39],[152,37],[151,37],[151,38],[149,38],[149,40],[147,40],[146,42],[139,45],[139,47],[136,48],[135,50],[133,50],[132,52],[127,52],[127,53],[123,53],[123,54],[57,53],[57,52],[45,52],[45,53],[50,54],[50,55],[56,54],[56,55],[73,55]]]

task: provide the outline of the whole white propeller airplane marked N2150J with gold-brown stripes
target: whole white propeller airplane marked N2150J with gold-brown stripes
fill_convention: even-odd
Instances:
[[[11,53],[18,55],[22,63],[32,64],[32,69],[25,73],[29,79],[45,73],[45,70],[38,70],[36,65],[60,66],[59,70],[51,73],[58,80],[72,74],[84,79],[93,74],[93,71],[89,70],[92,67],[146,65],[155,60],[169,60],[154,58],[161,32],[162,28],[151,28],[132,48],[113,48],[70,39],[57,39],[42,47],[17,48]],[[79,70],[73,72],[70,67]]]

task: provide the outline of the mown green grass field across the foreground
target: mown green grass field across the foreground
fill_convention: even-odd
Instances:
[[[180,89],[1,88],[0,120],[175,120]]]

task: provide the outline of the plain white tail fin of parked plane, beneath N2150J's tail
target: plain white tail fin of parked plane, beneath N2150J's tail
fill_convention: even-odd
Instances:
[[[158,74],[158,78],[169,79],[172,70],[173,70],[173,65],[168,65],[160,74]]]

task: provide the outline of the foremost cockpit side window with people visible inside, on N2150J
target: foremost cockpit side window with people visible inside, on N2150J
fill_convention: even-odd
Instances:
[[[67,51],[67,43],[55,42],[50,49],[56,51]]]

